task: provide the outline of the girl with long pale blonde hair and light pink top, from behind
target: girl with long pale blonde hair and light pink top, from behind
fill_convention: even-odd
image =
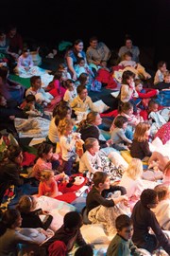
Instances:
[[[127,190],[130,210],[132,210],[135,203],[140,199],[141,193],[144,191],[144,181],[142,179],[142,174],[143,163],[141,159],[133,158],[120,181],[120,186],[125,187]]]

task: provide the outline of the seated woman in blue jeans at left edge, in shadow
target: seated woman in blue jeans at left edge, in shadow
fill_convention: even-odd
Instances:
[[[19,82],[8,79],[8,67],[0,67],[0,93],[7,100],[15,100],[18,104],[23,102],[26,88]]]

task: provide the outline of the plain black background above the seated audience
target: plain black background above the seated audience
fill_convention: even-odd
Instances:
[[[170,68],[170,0],[5,0],[0,9],[1,26],[15,23],[24,38],[38,44],[81,38],[86,49],[96,35],[117,49],[129,34],[133,45],[147,49],[154,66],[165,60]]]

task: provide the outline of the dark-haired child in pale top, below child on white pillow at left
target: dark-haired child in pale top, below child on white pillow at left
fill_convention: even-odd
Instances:
[[[43,106],[51,102],[53,96],[44,91],[42,88],[42,80],[40,76],[32,76],[30,78],[31,87],[26,90],[26,96],[33,94],[36,101]]]

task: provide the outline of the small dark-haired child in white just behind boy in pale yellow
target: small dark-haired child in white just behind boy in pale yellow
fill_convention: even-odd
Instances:
[[[75,82],[72,79],[66,80],[66,91],[64,93],[63,101],[71,103],[77,96]]]

